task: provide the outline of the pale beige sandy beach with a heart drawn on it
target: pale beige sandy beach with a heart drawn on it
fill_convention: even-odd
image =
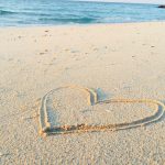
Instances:
[[[164,30],[1,28],[0,164],[163,165]]]

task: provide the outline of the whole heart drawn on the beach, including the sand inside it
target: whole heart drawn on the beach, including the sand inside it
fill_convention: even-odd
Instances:
[[[138,105],[143,107],[143,111],[144,107],[151,109],[150,106],[152,106],[154,112],[151,113],[147,110],[147,114],[140,116],[141,118],[136,117],[138,114],[120,113],[130,106],[134,112],[133,106]],[[95,89],[75,85],[64,86],[51,90],[43,97],[40,109],[40,133],[50,135],[133,129],[158,121],[164,111],[164,103],[157,100],[109,99],[100,101]],[[119,119],[116,121],[117,116]],[[119,121],[120,118],[123,120]]]

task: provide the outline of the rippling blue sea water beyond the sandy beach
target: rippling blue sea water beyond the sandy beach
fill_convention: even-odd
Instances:
[[[0,0],[0,26],[165,21],[156,4]]]

